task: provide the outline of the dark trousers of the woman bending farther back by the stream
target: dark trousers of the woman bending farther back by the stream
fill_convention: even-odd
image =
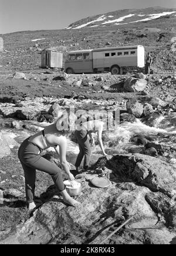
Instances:
[[[84,157],[83,167],[84,169],[87,169],[89,167],[89,162],[91,157],[91,147],[90,147],[90,142],[88,138],[88,132],[87,130],[84,130],[84,129],[76,130],[75,136],[79,144],[79,154],[77,156],[75,166],[79,167]]]

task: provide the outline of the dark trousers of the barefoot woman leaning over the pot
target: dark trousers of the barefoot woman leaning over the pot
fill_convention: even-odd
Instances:
[[[35,195],[36,170],[50,174],[59,192],[65,190],[60,168],[56,164],[50,163],[40,154],[39,147],[29,142],[29,138],[21,144],[18,150],[18,158],[25,173],[26,200],[28,203],[33,202]]]

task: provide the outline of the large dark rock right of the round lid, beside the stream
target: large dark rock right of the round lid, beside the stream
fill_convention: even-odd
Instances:
[[[160,159],[143,154],[124,154],[113,156],[109,161],[104,160],[104,165],[113,173],[131,178],[152,191],[160,191],[170,198],[176,197],[174,167]]]

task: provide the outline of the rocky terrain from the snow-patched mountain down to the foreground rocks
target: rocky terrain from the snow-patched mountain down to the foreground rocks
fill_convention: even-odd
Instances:
[[[0,195],[4,196],[4,200],[0,197],[0,244],[99,244],[132,216],[106,244],[176,243],[174,11],[123,10],[83,19],[60,31],[0,35],[4,39],[0,52]],[[159,15],[163,13],[167,14]],[[124,16],[128,17],[120,19]],[[115,19],[120,20],[112,22]],[[137,19],[147,20],[134,22]],[[150,75],[67,75],[39,68],[45,48],[65,54],[72,49],[137,44],[153,55]],[[29,215],[18,147],[52,123],[58,110],[70,106],[75,111],[120,109],[118,129],[103,132],[109,156],[102,157],[96,144],[90,170],[72,171],[83,186],[78,208],[65,206],[52,179],[37,172],[40,203]],[[74,133],[67,142],[67,160],[74,165],[79,151]],[[53,149],[43,156],[60,166]],[[90,183],[102,175],[109,178],[110,187],[96,188]],[[65,173],[63,177],[67,178]]]

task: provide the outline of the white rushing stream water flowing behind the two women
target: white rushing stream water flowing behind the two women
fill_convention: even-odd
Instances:
[[[117,127],[114,131],[104,131],[103,132],[103,144],[106,152],[108,154],[117,153],[141,153],[143,146],[137,146],[134,142],[131,142],[131,137],[136,135],[151,136],[155,143],[160,143],[163,146],[172,146],[176,148],[176,129],[175,129],[175,113],[170,113],[167,116],[160,116],[155,120],[154,126],[150,127],[142,123],[139,119],[136,123],[123,123]],[[25,121],[29,127],[33,127],[36,131],[43,129],[48,123],[38,123],[33,121]],[[34,133],[33,130],[26,129],[1,129],[1,134],[4,135],[4,140],[11,138],[11,143],[9,147],[12,148],[12,144],[22,143],[26,137],[29,137]],[[97,137],[95,135],[95,137]],[[13,143],[12,141],[15,141]],[[101,153],[98,143],[92,148],[93,154]],[[79,153],[79,147],[75,142],[72,142],[69,138],[67,139],[67,154],[77,154]],[[163,160],[166,160],[165,158]],[[168,161],[170,163],[176,164],[175,155],[168,155]]]

